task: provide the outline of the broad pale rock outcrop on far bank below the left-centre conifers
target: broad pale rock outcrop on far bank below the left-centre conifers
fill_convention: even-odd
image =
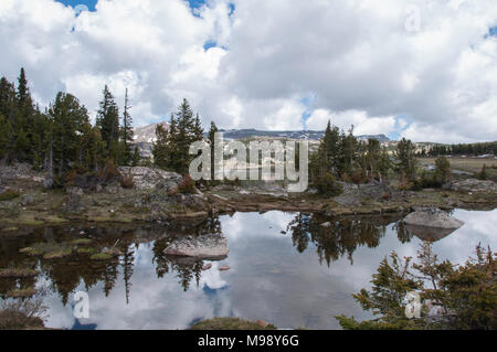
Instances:
[[[177,188],[182,181],[180,174],[156,168],[121,167],[119,172],[133,177],[137,190],[154,190],[156,188],[170,190]]]

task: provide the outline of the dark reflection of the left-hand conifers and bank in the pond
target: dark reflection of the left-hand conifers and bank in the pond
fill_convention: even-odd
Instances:
[[[92,239],[88,245],[101,253],[104,248],[115,248],[119,256],[106,260],[93,260],[89,253],[78,253],[73,241],[83,238]],[[199,236],[207,233],[221,233],[219,217],[209,218],[200,224],[176,224],[165,228],[163,226],[139,225],[130,227],[66,227],[54,226],[44,228],[22,230],[12,234],[9,238],[0,241],[0,268],[30,268],[40,271],[36,277],[28,278],[0,278],[0,299],[8,298],[8,292],[18,289],[36,287],[39,280],[49,282],[49,289],[57,292],[64,306],[67,305],[70,295],[83,284],[88,291],[98,282],[103,282],[103,291],[108,297],[121,275],[126,303],[130,302],[131,277],[134,274],[136,250],[140,244],[152,246],[157,277],[166,274],[176,274],[183,290],[189,289],[190,282],[200,281],[202,260],[168,257],[163,254],[167,244],[179,236]],[[46,259],[43,255],[30,256],[20,253],[27,247],[70,247],[72,253],[61,258]]]

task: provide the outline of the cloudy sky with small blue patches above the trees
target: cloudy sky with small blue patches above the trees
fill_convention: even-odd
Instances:
[[[108,84],[136,126],[187,98],[225,129],[497,140],[495,0],[1,0],[0,29],[41,106],[94,117]]]

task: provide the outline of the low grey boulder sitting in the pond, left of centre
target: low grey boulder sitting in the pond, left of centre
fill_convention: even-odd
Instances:
[[[228,241],[222,234],[208,234],[176,239],[163,253],[167,255],[208,259],[226,257],[229,250]]]

